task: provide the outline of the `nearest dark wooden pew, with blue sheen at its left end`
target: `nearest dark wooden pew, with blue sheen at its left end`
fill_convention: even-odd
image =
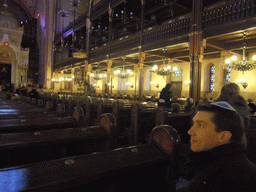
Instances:
[[[177,142],[172,127],[160,126],[148,144],[0,169],[0,190],[172,191]]]

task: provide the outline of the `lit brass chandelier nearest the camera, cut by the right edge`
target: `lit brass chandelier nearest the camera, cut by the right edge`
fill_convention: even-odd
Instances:
[[[232,55],[230,58],[227,58],[225,60],[225,63],[226,64],[232,64],[231,65],[231,68],[236,70],[236,71],[242,71],[242,73],[244,74],[245,71],[251,71],[253,69],[256,68],[256,55],[254,55],[252,57],[252,60],[254,60],[253,63],[250,63],[248,60],[246,60],[246,57],[245,57],[245,52],[246,52],[246,42],[245,42],[245,38],[246,38],[246,34],[247,32],[244,31],[243,32],[243,57],[242,57],[242,60],[238,61],[238,63],[236,63],[237,61],[237,56],[236,55]]]

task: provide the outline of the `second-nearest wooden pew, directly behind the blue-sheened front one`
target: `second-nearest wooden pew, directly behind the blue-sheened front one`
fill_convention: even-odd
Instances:
[[[114,116],[102,114],[98,126],[0,134],[0,167],[113,149],[115,129]]]

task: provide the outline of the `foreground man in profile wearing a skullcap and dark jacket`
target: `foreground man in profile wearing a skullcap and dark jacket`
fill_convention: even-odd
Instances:
[[[256,166],[241,144],[243,121],[229,103],[199,105],[188,134],[190,153],[180,153],[176,191],[256,190]]]

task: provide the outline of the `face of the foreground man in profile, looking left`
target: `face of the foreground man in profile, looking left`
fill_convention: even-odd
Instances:
[[[212,112],[199,111],[193,118],[193,126],[188,131],[193,152],[207,151],[220,145],[221,132],[215,131],[213,116]]]

